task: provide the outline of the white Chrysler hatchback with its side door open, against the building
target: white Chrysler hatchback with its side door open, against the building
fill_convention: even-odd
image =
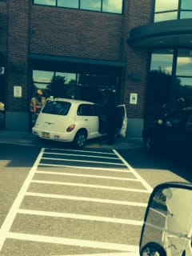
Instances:
[[[126,136],[126,106],[119,105],[121,120],[118,134]],[[40,138],[59,142],[74,142],[84,146],[87,139],[106,135],[106,114],[102,106],[68,98],[50,98],[38,114],[32,133]]]

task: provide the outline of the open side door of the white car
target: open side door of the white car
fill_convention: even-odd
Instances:
[[[126,105],[118,105],[118,135],[126,137],[127,128],[127,115],[126,115]]]

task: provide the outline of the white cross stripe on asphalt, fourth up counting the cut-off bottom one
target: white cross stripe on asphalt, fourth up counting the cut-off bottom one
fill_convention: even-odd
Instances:
[[[84,202],[109,203],[109,204],[122,205],[122,206],[139,206],[139,207],[147,206],[147,203],[144,203],[144,202],[128,202],[128,201],[107,200],[107,199],[100,199],[100,198],[84,198],[84,197],[66,196],[61,194],[43,194],[43,193],[35,193],[35,192],[26,192],[26,196],[41,197],[41,198],[57,198],[57,199],[66,199],[66,200],[84,201]]]

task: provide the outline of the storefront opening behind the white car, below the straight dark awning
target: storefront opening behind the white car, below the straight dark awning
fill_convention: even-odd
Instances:
[[[50,66],[54,66],[51,70]],[[120,91],[121,70],[114,67],[79,66],[67,63],[34,65],[30,100],[31,126],[38,117],[46,98],[76,98],[103,104],[107,91]]]

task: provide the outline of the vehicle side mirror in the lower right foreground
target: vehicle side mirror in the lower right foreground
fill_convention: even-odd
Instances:
[[[154,188],[146,209],[140,256],[192,256],[192,183]]]

